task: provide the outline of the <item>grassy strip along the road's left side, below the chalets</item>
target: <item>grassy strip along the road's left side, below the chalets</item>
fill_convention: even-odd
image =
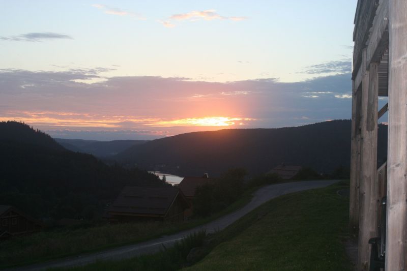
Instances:
[[[0,242],[0,268],[19,266],[91,253],[189,229],[228,214],[252,198],[256,189],[247,191],[240,200],[205,219],[185,223],[127,223],[79,229],[43,231]]]

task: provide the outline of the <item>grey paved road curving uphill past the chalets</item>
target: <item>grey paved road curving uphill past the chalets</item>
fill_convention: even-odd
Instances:
[[[76,256],[72,258],[67,258],[64,260],[56,260],[47,263],[41,263],[36,265],[30,265],[25,267],[20,267],[13,270],[44,270],[50,267],[69,267],[75,265],[84,265],[87,263],[92,263],[95,261],[100,260],[118,260],[123,258],[134,257],[141,254],[149,254],[159,251],[160,249],[165,247],[170,247],[171,245],[175,244],[178,240],[181,240],[185,236],[201,230],[206,230],[207,233],[213,233],[215,231],[222,230],[226,228],[228,225],[232,224],[239,218],[243,217],[244,215],[248,214],[254,208],[260,206],[261,204],[269,201],[272,198],[307,190],[313,188],[320,188],[326,187],[329,185],[334,184],[335,180],[311,180],[311,181],[303,181],[303,182],[294,182],[294,183],[285,183],[285,184],[277,184],[277,185],[269,185],[257,190],[250,203],[248,203],[243,208],[237,210],[234,213],[221,217],[217,220],[209,222],[208,224],[198,226],[193,229],[185,230],[176,234],[162,236],[160,238],[150,240],[144,243],[138,243],[135,245],[128,245],[124,247],[119,247],[115,249],[110,249],[106,251],[102,251],[99,253],[88,254],[84,256]]]

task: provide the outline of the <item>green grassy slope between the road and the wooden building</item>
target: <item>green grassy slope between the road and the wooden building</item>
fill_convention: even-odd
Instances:
[[[336,193],[345,188],[348,182],[281,196],[204,242],[184,241],[153,255],[74,270],[352,270],[342,243],[347,236],[348,198]],[[201,260],[186,267],[193,264],[187,260],[193,247],[200,247]]]

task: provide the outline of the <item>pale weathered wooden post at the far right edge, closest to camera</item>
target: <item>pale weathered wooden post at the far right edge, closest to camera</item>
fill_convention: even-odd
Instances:
[[[407,270],[407,1],[389,6],[386,271]]]

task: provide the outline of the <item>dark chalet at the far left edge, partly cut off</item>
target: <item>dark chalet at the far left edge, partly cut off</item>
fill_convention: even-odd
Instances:
[[[10,205],[0,205],[0,238],[39,231],[43,224]]]

